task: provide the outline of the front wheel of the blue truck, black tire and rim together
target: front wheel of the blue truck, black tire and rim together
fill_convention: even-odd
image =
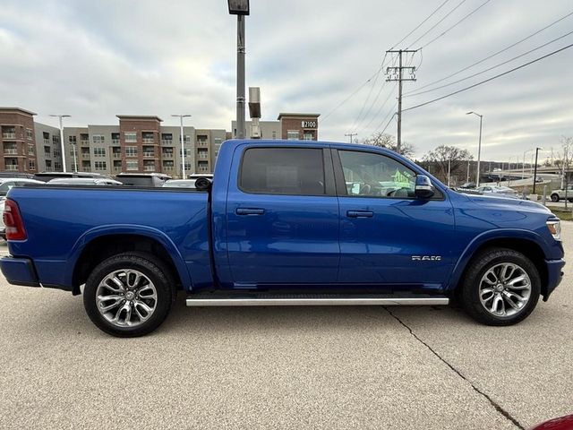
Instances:
[[[462,305],[475,320],[511,325],[533,312],[541,280],[535,264],[524,254],[491,248],[471,262],[461,288]]]

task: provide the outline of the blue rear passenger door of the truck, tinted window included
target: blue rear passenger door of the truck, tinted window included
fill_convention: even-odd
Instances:
[[[235,288],[337,281],[338,199],[330,157],[329,148],[311,142],[236,148],[227,193]]]

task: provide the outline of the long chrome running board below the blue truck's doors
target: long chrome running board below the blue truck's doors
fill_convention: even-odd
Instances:
[[[218,294],[197,294],[187,297],[188,306],[336,306],[336,305],[448,305],[449,298],[443,296],[399,297],[393,295],[346,296],[346,295],[252,295],[220,296]]]

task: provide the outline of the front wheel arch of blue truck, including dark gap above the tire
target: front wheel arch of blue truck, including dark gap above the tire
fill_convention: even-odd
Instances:
[[[506,231],[501,236],[485,235],[478,236],[475,240],[466,247],[462,256],[458,259],[458,263],[452,272],[448,283],[448,289],[453,290],[458,288],[458,284],[464,280],[466,271],[470,267],[476,255],[480,254],[487,248],[507,248],[524,254],[531,262],[534,263],[535,268],[539,272],[541,278],[541,294],[546,297],[548,294],[547,286],[549,283],[549,274],[547,265],[545,264],[546,254],[543,246],[540,245],[543,238],[534,232],[526,230],[517,230],[516,232]]]

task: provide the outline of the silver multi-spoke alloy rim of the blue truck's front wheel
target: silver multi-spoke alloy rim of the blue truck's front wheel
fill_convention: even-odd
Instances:
[[[517,264],[502,262],[483,274],[480,302],[492,315],[508,317],[521,312],[531,296],[529,275]]]

